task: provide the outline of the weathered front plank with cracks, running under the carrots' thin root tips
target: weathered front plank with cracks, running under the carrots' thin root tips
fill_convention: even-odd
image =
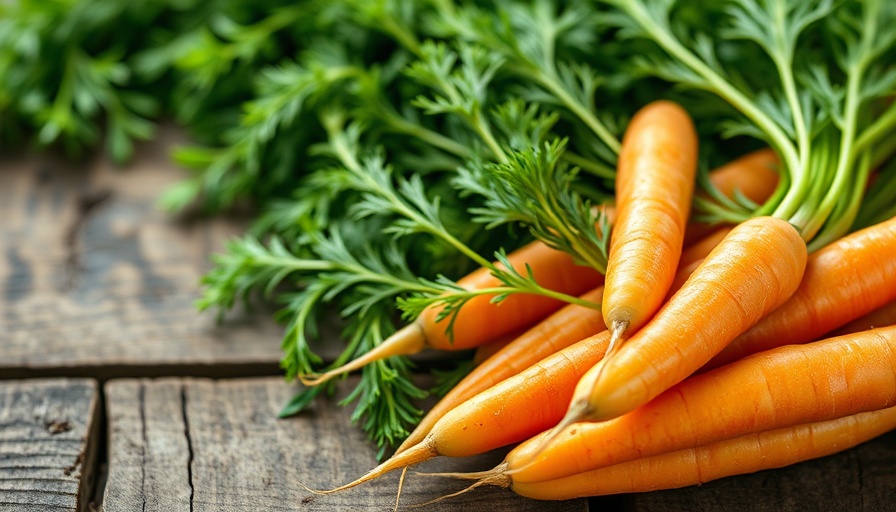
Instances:
[[[276,378],[113,380],[106,384],[110,425],[104,512],[389,510],[391,474],[344,493],[302,488],[345,483],[375,464],[374,450],[349,424],[350,411],[319,402],[297,418],[277,419],[293,389]],[[503,453],[441,460],[421,471],[481,470]],[[410,475],[402,503],[436,498],[463,485]],[[584,511],[585,500],[542,503],[503,489],[477,489],[426,510]]]

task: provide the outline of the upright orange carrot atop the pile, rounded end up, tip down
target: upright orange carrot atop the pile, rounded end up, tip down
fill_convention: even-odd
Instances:
[[[611,347],[650,319],[672,285],[696,172],[697,134],[687,112],[669,101],[639,110],[616,170],[617,219],[601,306]]]

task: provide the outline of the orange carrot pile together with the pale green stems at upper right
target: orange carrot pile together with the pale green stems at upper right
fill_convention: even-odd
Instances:
[[[726,37],[771,58],[780,94],[769,100],[707,40],[672,30],[671,2],[605,3],[622,36],[657,50],[657,74],[715,94],[739,116],[731,131],[768,147],[703,172],[688,110],[655,99],[634,112],[594,227],[609,238],[605,266],[532,242],[461,279],[487,292],[462,309],[433,306],[355,361],[302,376],[318,386],[426,348],[491,352],[390,458],[318,492],[514,444],[495,468],[442,476],[472,480],[461,492],[498,485],[537,499],[648,491],[896,428],[894,4],[735,2]],[[839,38],[842,87],[820,67],[795,73],[801,32],[835,11],[842,23],[824,30]],[[502,293],[494,274],[506,266],[580,300]]]

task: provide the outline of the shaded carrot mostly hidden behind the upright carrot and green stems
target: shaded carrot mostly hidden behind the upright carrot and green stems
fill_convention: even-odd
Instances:
[[[709,173],[709,181],[722,195],[734,198],[741,194],[757,204],[764,203],[778,186],[778,155],[770,148],[747,153]],[[708,198],[705,191],[696,191],[696,197]],[[706,237],[718,224],[691,220],[684,233],[685,244]]]

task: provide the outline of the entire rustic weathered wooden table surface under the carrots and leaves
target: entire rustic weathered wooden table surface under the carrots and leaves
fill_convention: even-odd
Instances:
[[[172,131],[133,164],[0,157],[0,511],[390,510],[397,475],[341,494],[375,450],[335,400],[296,418],[269,312],[192,306],[238,218],[155,207]],[[492,467],[504,451],[421,470]],[[403,504],[460,488],[410,478]],[[562,503],[477,489],[426,510],[896,510],[896,432],[785,469]]]

